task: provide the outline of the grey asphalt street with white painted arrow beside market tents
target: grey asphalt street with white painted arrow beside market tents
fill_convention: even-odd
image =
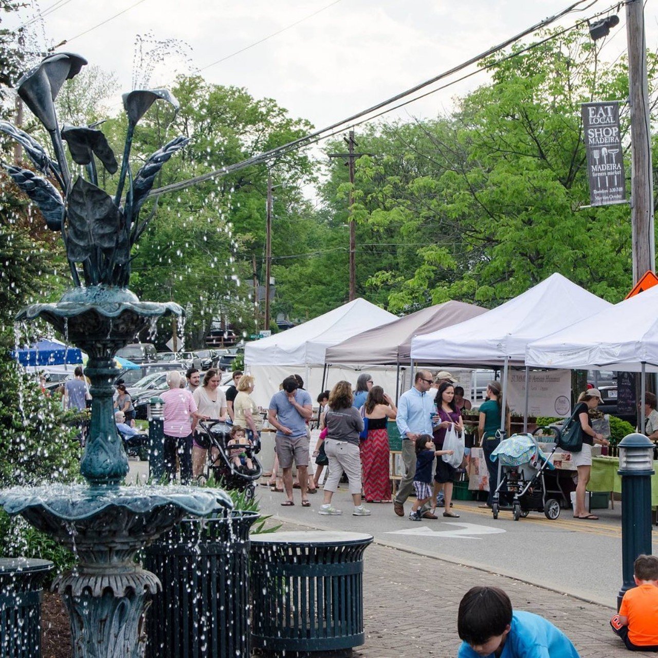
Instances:
[[[143,480],[148,464],[131,459],[130,469],[129,480]],[[413,522],[397,517],[393,506],[385,503],[368,505],[370,517],[353,517],[346,485],[332,501],[343,510],[340,517],[318,514],[322,489],[309,496],[311,507],[301,507],[299,490],[294,492],[293,507],[282,507],[284,494],[266,486],[258,486],[257,495],[261,512],[271,515],[273,522],[368,532],[380,545],[519,578],[601,605],[614,607],[622,584],[619,501],[614,510],[595,510],[599,520],[575,520],[570,509],[563,509],[555,520],[532,512],[515,521],[508,511],[501,511],[494,520],[490,510],[480,509],[474,501],[455,501],[453,511],[461,515],[459,519],[440,516],[439,520]],[[411,499],[405,505],[405,511],[409,509]],[[654,526],[654,553],[658,548],[657,530]]]

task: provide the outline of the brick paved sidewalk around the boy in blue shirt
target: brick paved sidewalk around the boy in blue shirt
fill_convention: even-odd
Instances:
[[[285,523],[282,530],[299,527]],[[371,544],[364,560],[366,642],[354,658],[454,658],[459,601],[476,585],[500,587],[515,608],[551,620],[582,658],[628,655],[609,626],[614,611],[604,605],[380,544]]]

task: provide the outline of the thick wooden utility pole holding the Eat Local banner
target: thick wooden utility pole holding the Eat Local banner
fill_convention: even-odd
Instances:
[[[630,203],[633,285],[647,270],[655,270],[653,230],[653,176],[647,84],[647,47],[642,0],[626,2],[628,86],[630,103],[631,161]]]

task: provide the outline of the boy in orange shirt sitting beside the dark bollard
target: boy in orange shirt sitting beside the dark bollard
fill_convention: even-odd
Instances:
[[[610,625],[630,651],[658,651],[658,557],[640,555],[634,563],[637,587],[624,594]]]

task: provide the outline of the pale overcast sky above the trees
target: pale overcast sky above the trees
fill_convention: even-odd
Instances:
[[[132,88],[137,35],[150,30],[162,41],[179,39],[190,46],[189,60],[169,57],[149,86],[166,86],[176,72],[201,69],[209,82],[274,98],[293,116],[320,128],[436,76],[573,1],[42,0],[39,6],[47,15],[40,38],[47,45],[68,40],[59,50],[80,53],[90,64],[114,71],[119,91]],[[598,0],[559,24],[573,24],[610,4]],[[5,19],[5,25],[29,20],[35,6]],[[128,11],[98,26],[124,9]],[[616,59],[626,48],[623,9],[620,18],[605,59]],[[647,46],[656,49],[653,1],[646,3],[645,21]],[[253,45],[279,30],[284,31]],[[209,66],[243,48],[248,49]],[[390,116],[436,116],[449,109],[455,93],[483,82],[486,78],[479,74]]]

